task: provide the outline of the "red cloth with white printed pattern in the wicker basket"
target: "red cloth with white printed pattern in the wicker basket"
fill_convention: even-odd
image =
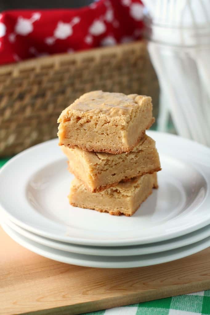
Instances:
[[[79,9],[11,10],[0,14],[0,64],[141,38],[140,0],[100,0]]]

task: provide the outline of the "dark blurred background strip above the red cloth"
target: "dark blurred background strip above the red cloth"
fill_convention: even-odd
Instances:
[[[11,9],[79,8],[93,0],[0,0],[0,11]]]

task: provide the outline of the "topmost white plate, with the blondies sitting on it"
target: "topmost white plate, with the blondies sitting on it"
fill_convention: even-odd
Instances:
[[[15,224],[81,245],[128,246],[168,240],[210,224],[210,149],[175,135],[156,140],[159,189],[132,217],[68,204],[70,181],[57,140],[16,155],[0,171],[0,208]]]

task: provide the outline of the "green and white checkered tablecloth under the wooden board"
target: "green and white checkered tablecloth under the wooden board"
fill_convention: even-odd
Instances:
[[[0,167],[8,159],[0,159]],[[210,315],[210,290],[86,313],[86,315]]]

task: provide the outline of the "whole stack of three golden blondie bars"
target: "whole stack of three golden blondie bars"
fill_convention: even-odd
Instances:
[[[159,155],[145,134],[153,122],[151,98],[143,95],[92,91],[68,106],[58,137],[75,176],[69,203],[133,215],[158,186]]]

